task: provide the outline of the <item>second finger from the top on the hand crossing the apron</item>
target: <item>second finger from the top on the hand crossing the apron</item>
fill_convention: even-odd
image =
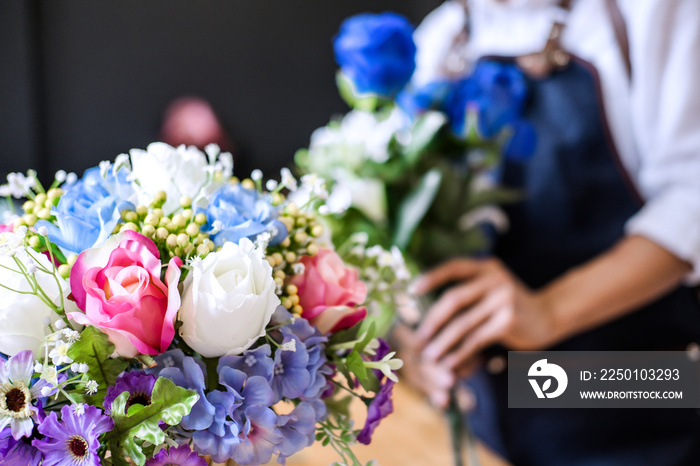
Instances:
[[[418,328],[416,343],[425,346],[455,314],[481,299],[492,286],[493,277],[484,275],[446,291]]]

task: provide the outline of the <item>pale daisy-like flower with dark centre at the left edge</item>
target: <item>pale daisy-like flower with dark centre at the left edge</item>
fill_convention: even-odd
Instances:
[[[43,379],[34,385],[34,354],[22,351],[7,361],[0,359],[0,430],[10,426],[12,437],[31,437],[34,423],[39,423],[39,410],[32,401],[41,397],[41,389],[48,386]]]

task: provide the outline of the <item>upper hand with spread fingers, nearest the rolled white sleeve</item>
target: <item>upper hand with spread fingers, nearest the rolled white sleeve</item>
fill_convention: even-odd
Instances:
[[[475,366],[475,356],[494,343],[536,350],[557,340],[545,300],[497,259],[451,260],[413,287],[423,294],[450,283],[456,284],[431,307],[415,334],[424,363],[439,363],[461,376]]]

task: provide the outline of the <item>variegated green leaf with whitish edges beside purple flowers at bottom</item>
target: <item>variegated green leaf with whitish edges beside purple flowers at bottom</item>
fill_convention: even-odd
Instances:
[[[158,423],[179,424],[199,399],[195,391],[178,387],[164,377],[156,380],[148,406],[135,404],[126,411],[128,397],[129,393],[124,392],[112,403],[114,429],[108,434],[108,441],[117,451],[141,466],[146,462],[141,444],[146,441],[159,445],[165,440]]]

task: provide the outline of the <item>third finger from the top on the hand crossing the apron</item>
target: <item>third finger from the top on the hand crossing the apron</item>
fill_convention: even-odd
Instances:
[[[469,338],[469,334],[503,304],[504,300],[501,293],[487,295],[483,301],[452,320],[449,325],[443,327],[440,333],[425,348],[423,357],[429,362],[436,362],[448,353],[450,349]]]

